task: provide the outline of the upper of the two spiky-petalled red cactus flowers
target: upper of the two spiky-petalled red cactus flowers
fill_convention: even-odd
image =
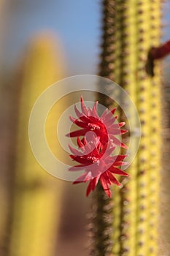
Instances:
[[[70,132],[66,136],[85,136],[87,132],[93,131],[96,133],[96,136],[100,138],[101,145],[104,145],[104,143],[112,140],[112,143],[114,143],[115,145],[127,148],[125,144],[123,144],[115,137],[116,135],[122,135],[127,132],[127,130],[125,129],[120,129],[125,123],[117,123],[117,117],[113,116],[116,108],[114,108],[112,111],[108,111],[108,109],[106,109],[101,117],[99,117],[97,113],[97,105],[98,102],[94,104],[93,109],[86,108],[81,97],[82,113],[80,113],[75,105],[74,110],[78,118],[73,118],[72,116],[70,116],[70,119],[74,124],[77,124],[77,126],[81,127],[82,129]]]

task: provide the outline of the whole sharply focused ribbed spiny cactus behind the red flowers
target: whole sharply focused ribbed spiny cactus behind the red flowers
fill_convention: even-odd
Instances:
[[[113,186],[112,200],[106,199],[98,186],[93,202],[91,255],[158,254],[161,78],[158,63],[153,78],[147,76],[145,64],[150,48],[159,45],[160,20],[161,1],[103,1],[99,75],[114,80],[128,92],[139,110],[142,138],[139,153],[127,171],[130,178],[123,180],[122,189]],[[107,97],[98,97],[102,104],[111,105]],[[119,111],[118,116],[125,119]],[[133,110],[129,108],[128,113],[135,128]],[[131,140],[135,150],[133,135]]]

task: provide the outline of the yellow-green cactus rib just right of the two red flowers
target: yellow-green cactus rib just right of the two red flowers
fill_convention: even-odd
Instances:
[[[138,44],[136,37],[136,8],[136,1],[117,4],[119,23],[121,24],[119,29],[120,36],[117,38],[121,46],[120,52],[117,54],[117,59],[120,59],[121,64],[118,67],[120,69],[120,75],[116,78],[116,81],[128,92],[135,104],[137,102],[136,63],[138,62],[136,58],[136,45]],[[128,109],[128,116],[122,116],[122,118],[125,118],[126,123],[128,123],[128,120],[131,121],[130,132],[133,147],[131,147],[129,154],[133,156],[137,146],[136,133],[138,133],[138,130],[136,130],[136,116],[134,114],[134,108],[130,108],[123,99],[122,104]],[[120,250],[117,251],[113,247],[113,253],[115,255],[136,255],[136,178],[138,175],[136,158],[131,163],[131,166],[128,167],[128,173],[130,178],[123,181],[123,188],[117,191],[121,198],[120,236],[117,241],[117,244],[120,244]],[[115,194],[116,196],[117,194]],[[114,211],[113,208],[113,215],[115,214]]]

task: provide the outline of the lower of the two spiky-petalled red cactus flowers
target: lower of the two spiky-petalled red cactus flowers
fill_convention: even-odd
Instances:
[[[128,173],[125,173],[118,168],[118,166],[128,164],[127,162],[123,162],[126,155],[110,156],[115,150],[115,147],[112,146],[112,143],[110,142],[106,143],[100,151],[100,147],[98,146],[99,138],[93,138],[90,142],[87,142],[86,139],[80,140],[77,138],[77,144],[81,151],[77,151],[75,148],[69,146],[72,151],[70,157],[74,161],[80,163],[80,165],[71,167],[69,170],[85,170],[85,173],[77,178],[77,180],[74,181],[74,184],[90,181],[86,193],[88,196],[90,192],[95,189],[98,181],[100,181],[104,191],[110,197],[110,185],[121,185],[115,178],[115,174],[128,176]]]

